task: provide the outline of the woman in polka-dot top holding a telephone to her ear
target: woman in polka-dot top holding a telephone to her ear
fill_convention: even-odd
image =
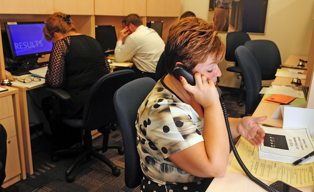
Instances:
[[[197,17],[179,20],[169,30],[168,74],[141,104],[136,121],[143,192],[206,191],[213,177],[226,172],[229,139],[215,87],[225,49],[217,34],[213,23]],[[177,65],[194,74],[195,86],[173,76]],[[261,145],[265,132],[257,122],[266,118],[229,118],[233,138],[242,135]]]

